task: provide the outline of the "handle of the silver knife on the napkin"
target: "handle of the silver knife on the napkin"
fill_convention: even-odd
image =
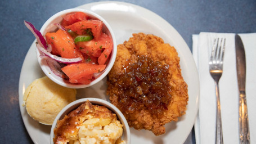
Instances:
[[[239,94],[239,134],[241,144],[250,143],[250,132],[245,91],[240,91]]]

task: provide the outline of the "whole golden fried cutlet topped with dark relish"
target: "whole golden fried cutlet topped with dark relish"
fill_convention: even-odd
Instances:
[[[118,45],[107,84],[111,103],[135,129],[147,129],[158,136],[165,133],[164,124],[185,114],[187,84],[178,53],[155,35],[133,34]]]

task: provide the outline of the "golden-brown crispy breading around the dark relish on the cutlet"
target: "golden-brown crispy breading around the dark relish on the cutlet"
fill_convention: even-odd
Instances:
[[[164,114],[156,116],[150,113],[148,109],[135,111],[134,113],[123,113],[130,127],[135,129],[147,129],[156,136],[165,133],[165,123],[177,121],[179,116],[185,114],[188,101],[187,84],[183,80],[181,68],[179,66],[179,57],[176,49],[163,39],[152,34],[138,33],[133,34],[128,41],[118,45],[116,61],[108,74],[107,95],[115,106],[118,106],[119,89],[114,87],[110,81],[114,82],[116,74],[124,73],[123,65],[127,60],[136,62],[137,56],[146,55],[153,61],[160,61],[169,65],[168,81],[170,83],[171,100],[168,110]]]

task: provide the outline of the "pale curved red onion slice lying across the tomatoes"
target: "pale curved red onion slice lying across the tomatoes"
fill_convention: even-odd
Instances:
[[[43,47],[39,46],[39,44],[37,44],[37,48],[38,48],[39,51],[44,53],[44,55],[50,57],[51,59],[53,59],[55,61],[61,62],[63,64],[73,64],[73,63],[77,63],[77,62],[82,61],[82,59],[80,57],[77,57],[77,58],[74,58],[74,59],[66,59],[66,58],[63,58],[63,57],[52,55],[52,53],[48,52]]]

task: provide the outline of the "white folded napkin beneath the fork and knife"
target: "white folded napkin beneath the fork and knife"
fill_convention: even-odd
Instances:
[[[246,55],[246,99],[251,143],[256,143],[256,33],[239,34]],[[209,73],[209,57],[214,38],[226,38],[223,74],[219,80],[224,143],[239,143],[239,91],[236,75],[235,34],[200,33],[192,35],[193,56],[200,81],[199,111],[195,122],[196,143],[215,143],[216,96]]]

